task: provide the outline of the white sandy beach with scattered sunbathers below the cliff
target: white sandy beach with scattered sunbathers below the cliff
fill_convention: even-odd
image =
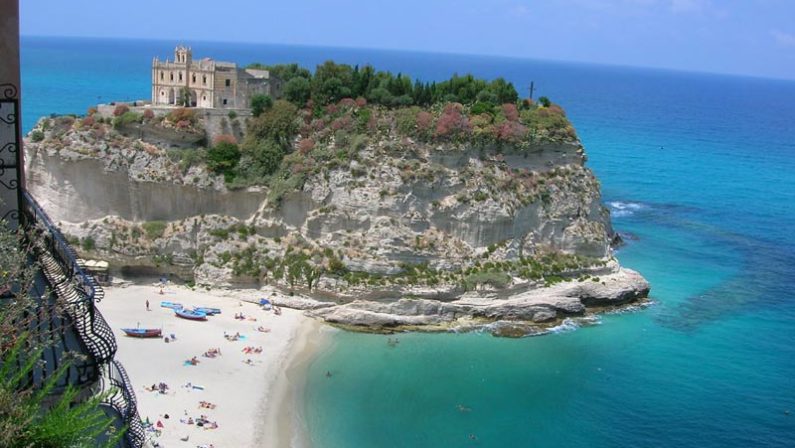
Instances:
[[[106,288],[105,299],[98,307],[116,335],[119,344],[116,359],[122,362],[133,383],[141,418],[163,423],[162,435],[154,439],[162,446],[193,448],[213,444],[215,448],[245,448],[257,446],[256,442],[260,446],[270,446],[292,438],[288,434],[295,428],[278,427],[284,424],[278,416],[295,413],[295,397],[290,397],[297,392],[295,384],[284,381],[283,372],[296,357],[307,359],[311,356],[308,350],[318,344],[307,343],[306,339],[317,337],[321,331],[318,323],[300,311],[283,309],[282,315],[277,316],[256,304],[239,300],[241,297],[257,300],[263,296],[267,294],[191,291],[175,286],[166,287],[163,295],[159,294],[159,288],[151,285]],[[147,299],[151,311],[146,311]],[[221,308],[222,314],[208,317],[204,322],[180,319],[172,310],[160,307],[163,300],[185,306]],[[240,312],[256,321],[236,320],[234,315]],[[135,328],[139,324],[141,328],[162,328],[164,336],[174,334],[176,341],[165,343],[162,338],[131,338],[121,331],[121,328]],[[258,332],[259,326],[270,332]],[[225,332],[239,332],[246,338],[230,342],[224,338]],[[247,346],[262,347],[263,351],[245,354],[242,349]],[[210,348],[219,348],[221,356],[203,357]],[[200,361],[197,366],[183,365],[194,356]],[[244,363],[247,359],[253,361],[253,366]],[[277,381],[278,377],[282,379]],[[169,387],[165,395],[145,390],[160,382]],[[204,389],[186,388],[186,383]],[[216,407],[201,408],[200,401],[208,401]],[[273,409],[274,406],[285,409]],[[169,415],[168,419],[165,414]],[[180,422],[188,417],[196,420],[200,415],[217,422],[218,428],[204,429]],[[188,441],[181,440],[186,436]]]

